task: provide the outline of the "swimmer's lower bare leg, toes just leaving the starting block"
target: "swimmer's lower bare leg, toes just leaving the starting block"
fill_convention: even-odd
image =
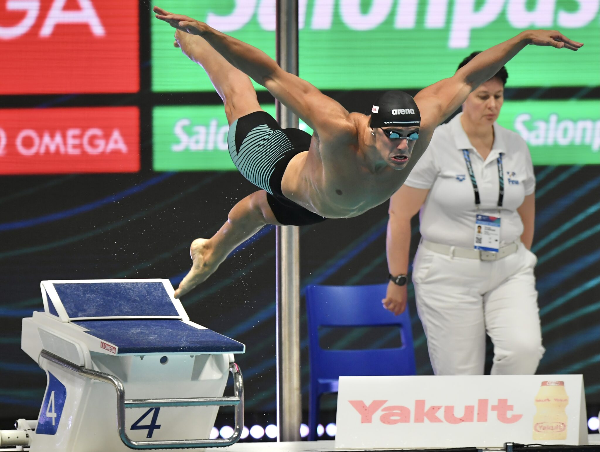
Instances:
[[[175,298],[185,295],[205,281],[236,246],[250,239],[268,224],[281,225],[269,207],[266,191],[259,190],[239,201],[214,236],[210,239],[196,239],[191,243],[190,255],[193,264],[175,291]]]

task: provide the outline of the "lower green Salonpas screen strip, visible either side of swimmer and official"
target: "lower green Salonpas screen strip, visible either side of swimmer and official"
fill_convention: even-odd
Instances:
[[[223,106],[155,107],[153,122],[155,171],[235,169]],[[498,123],[523,137],[534,165],[600,164],[600,100],[508,101]]]

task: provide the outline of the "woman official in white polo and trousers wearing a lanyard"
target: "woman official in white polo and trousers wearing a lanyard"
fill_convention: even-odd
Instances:
[[[458,66],[463,67],[478,52]],[[533,374],[544,353],[533,269],[535,175],[526,142],[496,123],[505,67],[469,94],[463,111],[437,127],[392,196],[383,305],[406,307],[410,219],[420,209],[413,263],[416,307],[436,375]]]

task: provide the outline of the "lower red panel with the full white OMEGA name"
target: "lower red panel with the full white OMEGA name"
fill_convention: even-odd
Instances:
[[[137,107],[0,110],[0,174],[133,173]]]

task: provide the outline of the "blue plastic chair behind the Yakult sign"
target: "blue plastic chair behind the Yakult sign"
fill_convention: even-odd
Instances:
[[[367,375],[415,375],[415,350],[408,307],[394,316],[382,306],[388,284],[371,286],[308,286],[306,308],[310,388],[308,440],[317,439],[319,400],[338,391],[338,377]],[[324,350],[319,326],[398,326],[401,347],[371,350]]]

